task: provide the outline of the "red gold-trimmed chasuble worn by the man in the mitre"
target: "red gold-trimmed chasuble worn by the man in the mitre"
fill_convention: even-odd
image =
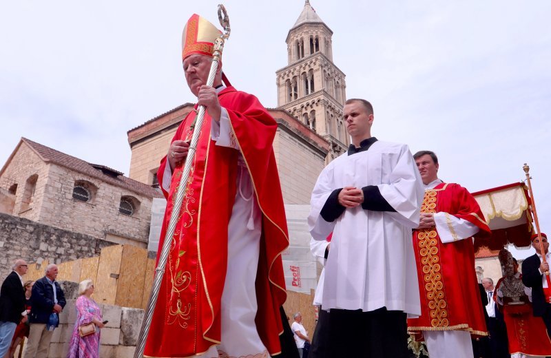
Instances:
[[[231,139],[245,159],[262,211],[256,327],[273,355],[281,350],[279,308],[287,297],[280,254],[289,245],[272,149],[277,124],[255,96],[227,87],[218,98],[229,114]],[[188,114],[173,141],[191,138],[195,116],[195,112]],[[227,268],[228,223],[236,196],[238,151],[216,145],[210,131],[211,118],[206,114],[147,337],[146,357],[188,357],[220,343],[220,300]],[[161,183],[165,165],[166,157],[158,170]],[[169,193],[164,192],[167,209],[159,248],[182,171],[183,163],[174,169]]]

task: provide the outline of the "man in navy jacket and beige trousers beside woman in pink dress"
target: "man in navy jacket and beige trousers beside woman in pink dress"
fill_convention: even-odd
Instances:
[[[59,313],[65,306],[65,295],[56,282],[58,269],[46,266],[45,276],[34,282],[31,295],[30,333],[25,357],[47,358],[54,328],[59,324]],[[55,317],[52,317],[52,314]],[[52,322],[52,318],[57,318]]]

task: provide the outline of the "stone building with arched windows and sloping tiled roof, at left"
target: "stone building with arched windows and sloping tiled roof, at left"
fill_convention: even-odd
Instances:
[[[100,240],[145,247],[157,189],[21,138],[0,170],[0,208]]]

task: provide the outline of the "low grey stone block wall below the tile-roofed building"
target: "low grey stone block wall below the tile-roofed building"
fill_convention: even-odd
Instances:
[[[97,256],[103,247],[110,245],[112,242],[90,235],[0,213],[0,267],[4,268],[0,280],[6,278],[19,258],[27,262],[61,263]]]

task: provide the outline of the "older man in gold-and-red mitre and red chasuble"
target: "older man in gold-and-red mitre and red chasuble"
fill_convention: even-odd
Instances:
[[[183,120],[158,180],[167,198],[160,245],[194,130],[196,156],[171,238],[145,357],[269,357],[280,353],[287,295],[280,254],[289,244],[272,141],[277,124],[255,96],[206,85],[220,31],[194,14],[183,33],[183,67],[197,105]],[[225,77],[225,76],[224,76]]]

